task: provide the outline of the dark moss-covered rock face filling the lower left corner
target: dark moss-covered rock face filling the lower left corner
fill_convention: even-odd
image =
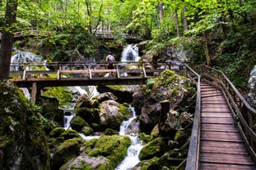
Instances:
[[[0,169],[50,169],[36,108],[10,81],[0,82]]]

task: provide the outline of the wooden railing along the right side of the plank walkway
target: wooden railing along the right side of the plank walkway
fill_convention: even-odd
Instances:
[[[202,66],[202,78],[222,90],[225,94],[230,110],[236,119],[237,128],[243,137],[249,154],[251,154],[254,162],[256,162],[256,134],[253,131],[256,110],[246,102],[242,94],[240,94],[235,88],[235,85],[231,83],[222,71],[218,71],[212,67]]]

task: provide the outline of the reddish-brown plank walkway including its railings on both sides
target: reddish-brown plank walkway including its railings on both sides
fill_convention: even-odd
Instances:
[[[256,111],[230,80],[202,67],[186,170],[256,169]]]

